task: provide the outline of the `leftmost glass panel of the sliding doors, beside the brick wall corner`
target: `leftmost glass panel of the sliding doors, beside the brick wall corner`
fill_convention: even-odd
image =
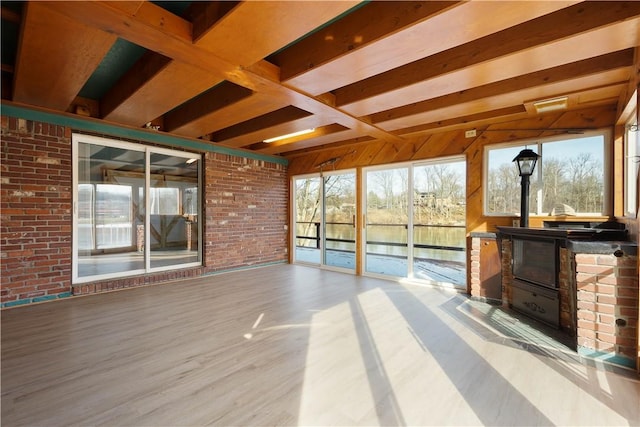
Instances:
[[[321,263],[320,224],[322,220],[322,178],[297,178],[294,180],[296,261]]]

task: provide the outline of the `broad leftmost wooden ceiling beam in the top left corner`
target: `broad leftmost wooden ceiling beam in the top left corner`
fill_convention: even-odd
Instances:
[[[65,111],[117,37],[46,3],[25,3],[13,100]]]

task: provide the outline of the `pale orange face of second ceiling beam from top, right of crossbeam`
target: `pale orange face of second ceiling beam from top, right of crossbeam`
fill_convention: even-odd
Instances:
[[[430,19],[424,19],[413,25],[410,31],[390,32],[371,43],[354,47],[349,55],[323,61],[308,58],[309,66],[305,72],[283,78],[283,82],[312,95],[318,95],[518,25],[573,3],[576,2],[471,1],[457,3]],[[487,16],[491,16],[491,19],[486,19]],[[316,43],[319,44],[319,41]],[[307,49],[310,48],[307,47]],[[286,70],[282,73],[288,75]]]

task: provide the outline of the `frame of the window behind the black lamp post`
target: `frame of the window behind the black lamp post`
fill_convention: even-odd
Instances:
[[[518,218],[519,213],[514,212],[489,212],[489,152],[491,150],[496,149],[504,149],[510,147],[526,147],[529,148],[534,147],[535,152],[541,155],[538,160],[538,164],[536,165],[536,169],[534,171],[535,178],[532,176],[532,181],[535,180],[537,182],[542,183],[542,167],[541,165],[544,163],[544,144],[551,142],[559,142],[559,141],[573,141],[580,138],[589,138],[594,136],[602,136],[604,145],[603,145],[603,157],[602,163],[604,165],[603,171],[603,212],[576,212],[576,218],[579,217],[609,217],[612,214],[612,200],[613,200],[613,190],[612,190],[612,164],[611,164],[611,147],[612,147],[612,132],[611,129],[603,128],[603,129],[595,129],[584,131],[579,135],[573,134],[562,134],[550,137],[543,138],[528,138],[528,139],[520,139],[516,141],[498,143],[498,144],[488,144],[484,146],[483,149],[483,160],[482,160],[482,214],[487,217],[510,217],[510,218]],[[516,166],[513,166],[516,168]],[[548,217],[548,212],[542,211],[542,185],[539,186],[537,190],[539,203],[534,204],[530,203],[529,210],[532,211],[535,209],[535,212],[530,212],[530,217]]]

